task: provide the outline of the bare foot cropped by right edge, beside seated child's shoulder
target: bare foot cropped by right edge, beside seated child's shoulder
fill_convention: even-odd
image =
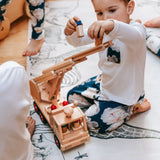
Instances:
[[[151,27],[151,28],[160,28],[160,17],[156,17],[145,22],[144,26]]]

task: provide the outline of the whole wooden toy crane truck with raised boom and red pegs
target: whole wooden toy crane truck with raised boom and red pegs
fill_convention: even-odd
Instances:
[[[48,122],[54,131],[56,145],[62,150],[89,141],[86,118],[76,103],[68,104],[60,95],[64,74],[72,67],[87,60],[86,56],[112,45],[106,42],[64,59],[63,62],[43,70],[43,74],[30,80],[30,91],[34,108],[43,122]]]

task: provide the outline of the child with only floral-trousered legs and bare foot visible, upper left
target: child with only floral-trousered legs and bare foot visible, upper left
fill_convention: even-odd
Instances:
[[[11,0],[0,0],[0,28],[4,20],[4,14],[6,6]],[[45,0],[26,0],[29,5],[29,9],[32,15],[32,38],[28,44],[26,50],[23,52],[23,56],[36,55],[43,44],[44,38],[42,29],[44,25],[45,15]]]

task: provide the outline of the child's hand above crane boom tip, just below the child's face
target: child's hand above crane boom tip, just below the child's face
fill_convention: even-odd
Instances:
[[[96,21],[88,28],[88,36],[91,39],[103,38],[103,34],[108,34],[114,28],[112,20]]]

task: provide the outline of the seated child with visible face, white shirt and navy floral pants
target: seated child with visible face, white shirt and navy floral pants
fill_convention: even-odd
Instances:
[[[66,39],[71,45],[80,46],[103,38],[103,43],[112,40],[113,46],[99,53],[102,74],[73,88],[67,97],[69,102],[77,100],[81,106],[90,106],[85,112],[89,129],[104,133],[150,108],[150,103],[143,100],[145,28],[130,20],[133,0],[92,0],[92,3],[98,21],[89,26],[83,38],[77,38],[75,21],[79,18],[69,19],[64,30]]]

